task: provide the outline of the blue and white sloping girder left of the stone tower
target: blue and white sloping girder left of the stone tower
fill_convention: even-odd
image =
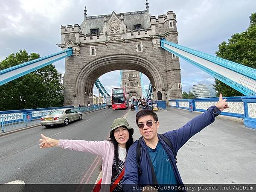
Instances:
[[[69,57],[70,55],[73,55],[72,48],[68,48],[64,51],[57,52],[52,55],[47,55],[32,61],[25,62],[23,64],[18,64],[13,67],[1,70],[0,85],[6,84],[9,81],[12,81],[49,64],[52,64],[53,62]]]

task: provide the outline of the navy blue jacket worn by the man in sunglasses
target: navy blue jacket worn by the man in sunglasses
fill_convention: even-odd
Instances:
[[[210,125],[215,120],[215,116],[218,116],[221,111],[216,106],[211,106],[207,111],[202,113],[201,115],[196,116],[191,121],[187,122],[183,127],[168,131],[163,135],[166,136],[175,148],[176,154],[178,150],[195,134],[201,131],[203,128]],[[167,152],[169,159],[171,160],[175,176],[177,178],[178,184],[183,184],[180,173],[177,169],[177,165],[175,162],[174,154],[169,146],[159,138],[160,143],[163,145],[163,148]],[[148,154],[147,146],[145,141],[141,140],[141,156],[140,156],[140,168],[142,170],[142,175],[138,175],[137,168],[137,160],[136,160],[136,148],[138,141],[135,141],[133,145],[129,148],[126,160],[125,160],[125,177],[122,182],[124,192],[131,191],[134,189],[132,186],[140,186],[140,185],[151,185],[153,184],[151,167],[150,167],[150,157]],[[166,175],[167,176],[167,175]],[[125,185],[129,184],[129,185]],[[132,184],[132,185],[131,185]],[[168,184],[168,183],[166,183]],[[141,190],[132,190],[141,191]]]

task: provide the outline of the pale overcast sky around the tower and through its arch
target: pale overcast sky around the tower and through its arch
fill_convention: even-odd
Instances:
[[[256,0],[148,0],[152,16],[176,13],[179,44],[215,55],[218,44],[249,26]],[[2,0],[0,1],[0,60],[26,49],[41,57],[61,51],[61,25],[81,24],[87,16],[145,10],[145,0]],[[64,60],[55,63],[65,72]],[[182,91],[195,83],[213,84],[214,79],[180,59]],[[116,87],[119,71],[99,78],[108,92]],[[149,81],[143,76],[145,87]],[[94,89],[94,93],[98,91]]]

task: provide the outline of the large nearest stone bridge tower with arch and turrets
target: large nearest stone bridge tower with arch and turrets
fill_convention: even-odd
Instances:
[[[58,46],[73,47],[65,58],[64,105],[92,103],[96,79],[113,70],[144,73],[154,100],[182,98],[179,58],[160,48],[160,38],[177,43],[174,12],[151,16],[147,2],[146,10],[111,15],[87,16],[84,8],[80,26],[61,26]]]

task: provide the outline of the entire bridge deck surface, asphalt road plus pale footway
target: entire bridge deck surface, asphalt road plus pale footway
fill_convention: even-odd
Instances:
[[[99,157],[60,148],[40,149],[40,134],[55,139],[105,140],[113,119],[124,114],[137,140],[136,112],[112,109],[87,113],[82,121],[67,127],[39,126],[1,136],[0,183],[95,183]],[[180,128],[198,113],[168,108],[157,115],[159,133],[164,133]],[[177,160],[184,183],[256,183],[256,130],[244,127],[242,122],[217,118],[180,149]]]

